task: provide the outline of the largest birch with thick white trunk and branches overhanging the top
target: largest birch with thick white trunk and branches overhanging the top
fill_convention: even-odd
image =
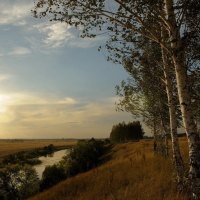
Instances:
[[[182,119],[189,144],[191,189],[194,199],[200,199],[200,138],[191,110],[186,48],[190,38],[199,28],[194,26],[189,16],[199,18],[198,0],[37,0],[35,16],[50,15],[52,20],[81,27],[82,37],[95,37],[106,32],[109,37],[130,34],[148,38],[158,43],[173,60],[176,74],[178,97]],[[164,11],[163,11],[164,10]],[[200,20],[199,20],[200,21]],[[160,29],[162,26],[169,33],[170,46],[163,43]],[[184,29],[184,34],[182,30]],[[186,37],[186,40],[183,40]]]

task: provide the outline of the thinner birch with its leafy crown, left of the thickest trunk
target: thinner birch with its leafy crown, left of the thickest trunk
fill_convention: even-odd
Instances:
[[[125,69],[133,80],[127,84],[122,82],[121,87],[117,87],[117,93],[121,97],[118,107],[124,108],[135,116],[146,118],[145,123],[153,130],[155,136],[158,135],[158,130],[161,133],[164,132],[167,138],[166,133],[170,125],[173,160],[177,181],[181,184],[184,167],[177,136],[177,102],[174,96],[175,88],[172,85],[174,73],[171,69],[173,64],[166,57],[165,50],[161,52],[162,48],[159,48],[156,43],[145,40],[139,45],[142,46],[138,50],[140,55],[133,53],[138,57],[137,62],[135,63],[132,57],[129,62],[124,62]],[[138,67],[136,67],[137,64]],[[167,113],[168,109],[169,113]],[[167,146],[167,141],[165,146]]]

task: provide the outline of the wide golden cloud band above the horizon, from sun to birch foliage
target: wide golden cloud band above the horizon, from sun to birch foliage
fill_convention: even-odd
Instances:
[[[0,137],[103,137],[119,122],[112,98],[96,102],[30,93],[0,95]],[[9,136],[7,136],[9,137]]]

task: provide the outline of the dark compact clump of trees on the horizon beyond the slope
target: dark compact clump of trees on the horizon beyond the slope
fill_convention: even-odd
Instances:
[[[142,139],[144,132],[139,121],[130,122],[128,124],[119,123],[114,125],[110,133],[110,140],[112,142],[127,142],[130,140]]]

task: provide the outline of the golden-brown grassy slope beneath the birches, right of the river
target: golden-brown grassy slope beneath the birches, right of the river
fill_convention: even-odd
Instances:
[[[187,142],[181,139],[184,159]],[[107,163],[67,179],[30,200],[187,200],[176,191],[171,158],[154,154],[151,140],[120,144]]]

